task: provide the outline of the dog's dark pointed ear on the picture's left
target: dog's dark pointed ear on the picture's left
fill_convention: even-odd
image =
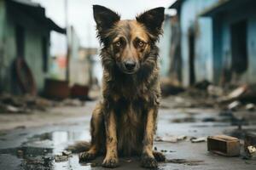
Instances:
[[[93,16],[99,33],[102,30],[108,30],[115,22],[120,20],[119,14],[101,5],[93,5]]]

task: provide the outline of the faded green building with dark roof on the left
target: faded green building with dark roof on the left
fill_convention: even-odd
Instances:
[[[0,1],[0,92],[20,94],[14,71],[16,59],[26,61],[37,92],[42,92],[48,73],[50,31],[66,32],[45,16],[38,3]]]

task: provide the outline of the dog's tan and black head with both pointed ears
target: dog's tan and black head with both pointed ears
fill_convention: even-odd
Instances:
[[[164,9],[153,8],[136,20],[120,20],[109,8],[93,6],[98,37],[120,71],[134,74],[143,65],[162,32]]]

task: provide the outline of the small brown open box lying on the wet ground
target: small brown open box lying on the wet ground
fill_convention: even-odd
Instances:
[[[216,135],[207,138],[208,151],[222,156],[239,156],[240,142],[239,139],[226,136]]]

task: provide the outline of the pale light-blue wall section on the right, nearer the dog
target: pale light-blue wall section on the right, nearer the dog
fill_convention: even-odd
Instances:
[[[201,11],[218,0],[185,0],[181,6],[181,54],[183,62],[183,86],[189,86],[189,28],[195,30],[195,81],[213,80],[212,20],[199,18]]]

